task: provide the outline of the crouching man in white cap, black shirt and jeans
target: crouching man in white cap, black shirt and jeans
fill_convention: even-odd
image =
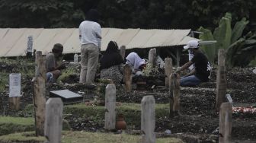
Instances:
[[[194,57],[189,62],[182,65],[176,73],[183,71],[192,64],[194,64],[195,68],[181,78],[181,86],[194,86],[201,82],[209,81],[211,71],[210,62],[206,56],[203,55],[203,52],[200,51],[198,41],[190,40],[187,46],[184,46],[184,49],[190,50],[190,52],[194,54]]]

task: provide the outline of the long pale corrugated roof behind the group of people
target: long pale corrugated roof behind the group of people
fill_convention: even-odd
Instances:
[[[106,50],[110,40],[126,49],[186,45],[194,39],[188,33],[190,30],[102,28],[101,51]],[[29,36],[33,37],[33,49],[43,54],[50,52],[55,43],[64,46],[63,53],[80,52],[77,28],[0,28],[0,56],[25,56]]]

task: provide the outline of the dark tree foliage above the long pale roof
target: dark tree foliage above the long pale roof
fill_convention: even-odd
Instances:
[[[0,27],[78,27],[90,8],[102,27],[216,27],[230,11],[234,21],[249,18],[254,0],[0,0]]]

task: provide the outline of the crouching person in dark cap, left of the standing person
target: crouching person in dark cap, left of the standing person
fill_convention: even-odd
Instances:
[[[62,56],[63,46],[60,43],[56,43],[53,46],[52,52],[46,55],[46,80],[47,83],[56,82],[61,75],[61,69],[66,68],[64,64],[57,64],[57,59]]]

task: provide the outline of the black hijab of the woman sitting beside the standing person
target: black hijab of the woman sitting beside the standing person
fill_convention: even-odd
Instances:
[[[110,68],[111,66],[123,63],[123,57],[120,55],[116,42],[110,41],[108,43],[106,52],[102,56],[100,63],[100,69]]]

